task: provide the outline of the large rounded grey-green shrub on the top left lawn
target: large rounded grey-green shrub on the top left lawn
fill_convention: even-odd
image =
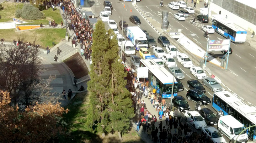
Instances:
[[[28,20],[43,19],[43,13],[31,4],[25,4],[21,9],[21,18]]]

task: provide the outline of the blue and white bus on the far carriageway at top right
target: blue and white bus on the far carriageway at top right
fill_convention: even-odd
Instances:
[[[244,43],[246,40],[246,35],[247,35],[246,30],[234,24],[233,22],[229,21],[226,18],[215,16],[213,18],[212,27],[213,29],[215,29],[215,32],[219,33],[225,38],[227,39],[231,38],[232,42]]]

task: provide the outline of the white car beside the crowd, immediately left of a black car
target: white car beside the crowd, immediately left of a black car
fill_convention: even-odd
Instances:
[[[185,119],[196,129],[201,129],[206,126],[206,122],[197,111],[188,110],[185,112],[184,116]]]

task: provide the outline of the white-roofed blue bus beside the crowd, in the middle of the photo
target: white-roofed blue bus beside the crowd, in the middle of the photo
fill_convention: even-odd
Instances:
[[[140,67],[147,67],[149,85],[156,89],[156,92],[162,96],[162,98],[171,98],[173,75],[165,68],[159,67],[159,65],[152,59],[141,59]],[[178,82],[174,78],[174,92],[173,95],[177,96],[177,84]]]

